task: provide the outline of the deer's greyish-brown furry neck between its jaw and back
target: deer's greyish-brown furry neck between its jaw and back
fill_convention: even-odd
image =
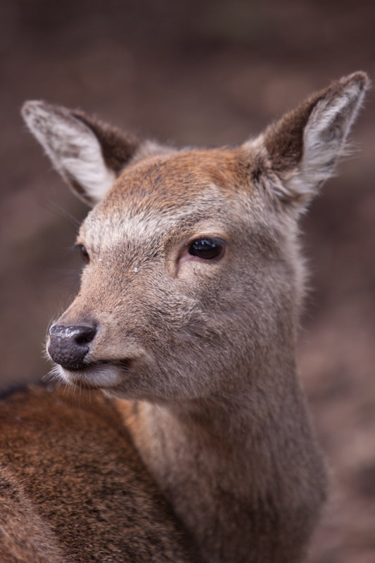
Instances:
[[[322,460],[294,368],[246,381],[223,396],[117,405],[203,561],[297,562],[324,496]]]

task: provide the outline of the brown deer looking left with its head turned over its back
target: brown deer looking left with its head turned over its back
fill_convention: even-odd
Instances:
[[[1,406],[1,560],[303,561],[327,477],[295,361],[299,224],[368,87],[342,77],[220,148],[25,103],[91,210],[80,291],[46,344],[81,395],[49,384]]]

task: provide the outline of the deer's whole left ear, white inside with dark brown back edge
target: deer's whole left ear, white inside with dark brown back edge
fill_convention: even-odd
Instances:
[[[135,137],[80,110],[27,101],[22,115],[56,170],[89,205],[103,198],[139,146]]]

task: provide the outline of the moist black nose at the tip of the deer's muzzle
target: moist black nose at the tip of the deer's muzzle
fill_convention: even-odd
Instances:
[[[65,369],[82,369],[84,357],[89,351],[87,344],[94,339],[93,327],[65,327],[53,324],[49,329],[48,353],[53,362]]]

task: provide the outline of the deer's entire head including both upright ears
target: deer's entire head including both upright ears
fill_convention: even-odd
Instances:
[[[23,110],[93,205],[80,293],[51,327],[73,384],[153,401],[223,395],[293,357],[303,272],[298,215],[329,177],[362,102],[362,72],[255,141],[174,151],[44,102]]]

